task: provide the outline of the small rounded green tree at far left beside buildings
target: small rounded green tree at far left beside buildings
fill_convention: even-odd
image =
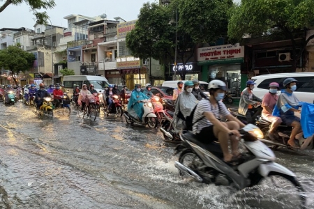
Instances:
[[[25,52],[18,46],[8,46],[8,48],[0,50],[0,66],[10,70],[16,85],[17,75],[29,70],[33,66],[34,60],[33,54]]]

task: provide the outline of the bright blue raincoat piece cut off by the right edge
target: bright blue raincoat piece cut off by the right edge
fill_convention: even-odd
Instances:
[[[301,110],[301,127],[304,138],[314,134],[314,104],[304,102]]]

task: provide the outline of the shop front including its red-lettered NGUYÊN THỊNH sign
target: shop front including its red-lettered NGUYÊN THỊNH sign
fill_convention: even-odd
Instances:
[[[197,64],[202,66],[202,80],[210,82],[220,79],[236,97],[241,93],[241,79],[246,82],[246,75],[241,75],[243,63],[244,46],[239,43],[197,49]]]

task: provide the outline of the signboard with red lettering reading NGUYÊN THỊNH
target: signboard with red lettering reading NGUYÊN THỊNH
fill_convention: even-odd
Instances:
[[[240,46],[240,44],[237,43],[235,45],[199,48],[197,49],[197,61],[199,65],[243,63],[244,46]]]

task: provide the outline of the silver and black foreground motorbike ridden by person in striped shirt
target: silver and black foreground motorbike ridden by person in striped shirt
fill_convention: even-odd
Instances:
[[[180,175],[192,177],[200,183],[234,185],[237,189],[258,185],[264,178],[281,177],[299,190],[298,198],[301,206],[305,206],[304,189],[296,175],[281,164],[277,164],[274,152],[258,140],[262,137],[262,131],[255,125],[248,124],[239,132],[246,152],[242,153],[242,160],[237,164],[223,161],[223,153],[218,142],[202,144],[191,132],[180,134],[182,144],[175,149],[176,155],[180,153],[179,161],[174,164],[179,169]]]

